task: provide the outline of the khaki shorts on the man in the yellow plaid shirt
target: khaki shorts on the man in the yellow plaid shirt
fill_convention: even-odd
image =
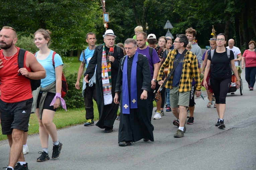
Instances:
[[[178,87],[172,87],[172,89],[170,89],[171,108],[176,108],[178,106],[188,107],[189,96],[190,91],[180,93]]]

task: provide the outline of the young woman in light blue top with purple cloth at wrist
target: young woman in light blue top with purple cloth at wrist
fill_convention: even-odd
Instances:
[[[37,158],[37,162],[44,162],[50,159],[48,155],[49,134],[53,140],[53,159],[59,157],[62,148],[62,143],[58,140],[57,128],[53,123],[53,118],[56,109],[63,102],[61,98],[63,62],[60,55],[55,54],[55,67],[53,66],[52,57],[54,51],[48,48],[51,39],[50,34],[51,32],[45,29],[38,29],[34,33],[34,43],[39,48],[35,56],[37,61],[46,69],[46,78],[41,79],[40,92],[37,94],[35,111],[39,122],[39,136],[42,145],[42,152],[38,152],[41,156]]]

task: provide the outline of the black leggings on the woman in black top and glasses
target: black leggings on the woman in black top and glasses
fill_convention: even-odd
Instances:
[[[210,83],[215,95],[216,104],[226,104],[226,96],[231,85],[231,78],[220,80],[211,77]]]

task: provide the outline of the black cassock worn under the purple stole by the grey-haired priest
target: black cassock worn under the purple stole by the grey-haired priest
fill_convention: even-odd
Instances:
[[[139,54],[141,55],[141,54]],[[126,56],[128,57],[128,56]],[[120,66],[118,70],[118,76],[116,80],[116,90],[115,92],[122,91],[122,70],[121,63],[122,58],[120,60]],[[131,67],[133,57],[127,61],[127,78],[128,78],[128,89],[129,89],[129,100],[131,101]],[[138,56],[139,60],[139,56]],[[124,63],[124,61],[123,61]],[[141,100],[141,94],[143,90],[147,90],[148,92],[151,90],[151,73],[149,68],[149,62],[147,57],[142,55],[142,61],[137,62],[137,101],[138,108],[130,109],[130,114],[122,114],[122,109],[120,111],[120,124],[119,124],[119,132],[118,132],[118,143],[123,141],[131,141],[136,142],[143,138],[154,141],[153,130],[154,126],[151,124],[149,118],[149,108],[148,101]],[[122,93],[119,93],[120,98],[120,106],[122,105]]]

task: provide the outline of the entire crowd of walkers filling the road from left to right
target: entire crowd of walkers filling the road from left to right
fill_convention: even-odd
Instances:
[[[99,112],[95,125],[104,129],[103,133],[111,133],[114,121],[120,120],[119,146],[129,146],[141,139],[154,141],[152,121],[165,115],[164,107],[176,118],[173,125],[178,130],[173,136],[184,137],[186,125],[195,121],[194,98],[201,95],[202,86],[209,100],[206,107],[214,105],[218,113],[215,126],[225,128],[227,93],[231,83],[240,88],[239,61],[242,61],[241,68],[245,69],[248,88],[253,91],[256,76],[255,41],[249,42],[249,49],[242,55],[239,48],[234,46],[233,39],[228,40],[226,47],[225,34],[216,35],[213,28],[213,37],[209,39],[210,49],[202,55],[193,28],[184,30],[185,34],[177,34],[174,41],[171,37],[161,36],[157,39],[155,34],[147,35],[141,26],[134,31],[133,38],[115,45],[116,35],[108,29],[102,36],[104,43],[98,46],[96,35],[88,33],[88,48],[81,53],[75,84],[76,89],[80,89],[83,75],[84,126],[94,125],[95,100]],[[66,109],[61,95],[63,62],[59,54],[49,49],[50,35],[51,32],[45,29],[38,29],[34,33],[34,43],[39,50],[32,54],[25,50],[22,53],[23,49],[15,46],[15,29],[6,26],[0,31],[0,123],[11,147],[6,170],[28,170],[23,155],[29,152],[26,140],[31,113],[37,116],[41,142],[41,151],[38,152],[41,155],[36,161],[50,159],[49,135],[53,142],[52,159],[61,154],[63,144],[58,139],[53,118],[59,106]],[[17,64],[21,57],[22,66]],[[32,80],[40,80],[40,86],[33,91]],[[156,101],[154,116],[153,101]]]

